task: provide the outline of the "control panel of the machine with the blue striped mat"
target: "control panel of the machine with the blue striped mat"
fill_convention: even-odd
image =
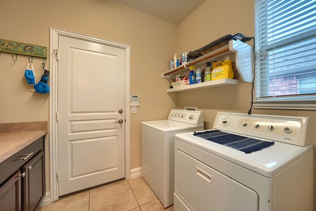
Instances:
[[[217,114],[214,128],[255,138],[306,146],[309,117],[276,115]]]

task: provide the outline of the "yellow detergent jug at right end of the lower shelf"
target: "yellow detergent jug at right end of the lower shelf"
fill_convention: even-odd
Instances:
[[[213,62],[212,81],[218,79],[233,79],[234,72],[232,61],[229,56],[224,57],[224,61]]]

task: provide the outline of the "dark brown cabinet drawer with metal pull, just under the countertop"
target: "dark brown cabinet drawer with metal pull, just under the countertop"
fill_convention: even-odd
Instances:
[[[36,156],[41,150],[44,149],[44,136],[25,147],[15,155],[0,164],[0,185],[13,173],[15,173],[26,162]]]

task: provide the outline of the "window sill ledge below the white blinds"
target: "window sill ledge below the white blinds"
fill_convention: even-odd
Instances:
[[[316,110],[316,100],[253,101],[254,109]]]

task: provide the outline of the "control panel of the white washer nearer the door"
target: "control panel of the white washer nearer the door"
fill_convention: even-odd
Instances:
[[[172,109],[170,111],[168,120],[178,121],[182,123],[190,123],[194,125],[204,124],[203,111]]]

